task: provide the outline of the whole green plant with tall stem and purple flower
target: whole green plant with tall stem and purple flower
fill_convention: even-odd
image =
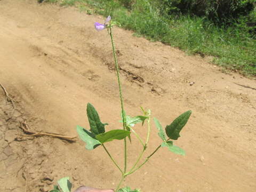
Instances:
[[[91,105],[91,103],[87,103],[87,117],[89,119],[90,124],[90,130],[86,130],[81,126],[77,126],[77,133],[79,137],[86,142],[86,149],[93,150],[99,146],[102,146],[103,149],[105,149],[107,155],[110,157],[111,161],[114,163],[114,165],[117,167],[117,169],[121,172],[121,179],[118,182],[118,185],[116,187],[116,192],[132,192],[132,191],[139,191],[138,189],[131,190],[130,187],[124,187],[121,188],[123,180],[130,174],[134,173],[135,171],[138,171],[143,165],[145,165],[149,159],[161,148],[165,147],[172,151],[175,154],[179,155],[185,155],[185,151],[178,146],[174,145],[174,141],[178,140],[180,137],[180,131],[182,128],[186,125],[190,115],[191,111],[188,110],[185,113],[178,116],[170,125],[166,125],[165,131],[161,125],[161,123],[158,121],[157,118],[154,117],[154,122],[156,125],[156,128],[158,130],[158,136],[161,138],[161,143],[158,147],[156,147],[153,152],[145,158],[145,160],[140,163],[140,160],[145,153],[145,151],[148,149],[148,141],[150,138],[150,130],[151,130],[151,112],[150,110],[144,110],[141,107],[142,114],[138,116],[129,116],[126,115],[124,110],[124,102],[123,102],[123,95],[122,95],[122,85],[119,77],[119,66],[116,58],[115,53],[115,45],[113,40],[113,27],[115,25],[118,25],[117,22],[111,21],[110,16],[106,19],[104,24],[95,22],[94,26],[96,30],[103,30],[107,29],[108,34],[111,39],[111,44],[113,48],[113,55],[114,55],[114,61],[115,61],[115,68],[117,73],[117,82],[119,85],[119,97],[121,101],[121,116],[122,116],[122,124],[123,129],[115,129],[107,131],[105,130],[105,126],[108,125],[108,123],[102,123],[100,121],[99,114],[97,110]],[[136,132],[134,125],[141,123],[142,126],[147,123],[147,136],[146,140],[144,141],[142,137]],[[131,140],[131,133],[135,135],[135,137],[139,140],[141,143],[141,153],[138,155],[137,160],[134,162],[133,166],[128,169],[127,167],[127,145],[129,143],[127,142],[127,139],[130,141],[130,144],[132,143]],[[113,141],[113,140],[123,140],[124,141],[124,167],[118,165],[109,153],[108,149],[106,148],[106,143]],[[63,192],[70,192],[71,190],[71,184],[68,180],[68,178],[62,178],[58,181],[59,187],[55,186],[54,189],[51,192],[59,192],[62,190]]]

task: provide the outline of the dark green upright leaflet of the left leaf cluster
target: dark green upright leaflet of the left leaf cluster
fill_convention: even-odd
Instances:
[[[108,125],[107,123],[103,124],[100,121],[99,114],[97,110],[92,106],[91,103],[87,103],[87,117],[90,124],[90,131],[94,134],[100,134],[105,132],[105,125]]]

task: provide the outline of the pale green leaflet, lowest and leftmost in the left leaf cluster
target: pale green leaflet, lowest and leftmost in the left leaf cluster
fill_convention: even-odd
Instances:
[[[85,146],[86,149],[92,150],[92,149],[95,149],[96,147],[98,147],[99,145],[101,145],[100,141],[98,141],[97,139],[94,139],[94,134],[90,133],[83,127],[77,125],[76,131],[77,131],[79,137],[84,142],[86,142],[86,146]]]

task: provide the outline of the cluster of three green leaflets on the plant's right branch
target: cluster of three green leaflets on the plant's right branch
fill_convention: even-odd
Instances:
[[[191,110],[186,111],[185,113],[181,114],[179,117],[175,118],[170,125],[167,125],[165,127],[165,132],[167,137],[169,137],[169,139],[177,140],[180,137],[180,131],[188,122],[188,119],[191,113],[192,113]],[[168,140],[166,139],[166,135],[163,130],[163,127],[157,118],[154,118],[154,122],[159,131],[158,136],[164,141],[161,146],[167,147],[170,151],[172,151],[175,154],[185,155],[185,151],[183,149],[179,148],[178,146],[174,146],[173,141],[168,141],[169,139]]]

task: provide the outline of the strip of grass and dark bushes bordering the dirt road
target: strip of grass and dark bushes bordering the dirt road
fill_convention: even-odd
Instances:
[[[256,0],[47,0],[111,17],[135,35],[213,56],[224,69],[256,77]]]

